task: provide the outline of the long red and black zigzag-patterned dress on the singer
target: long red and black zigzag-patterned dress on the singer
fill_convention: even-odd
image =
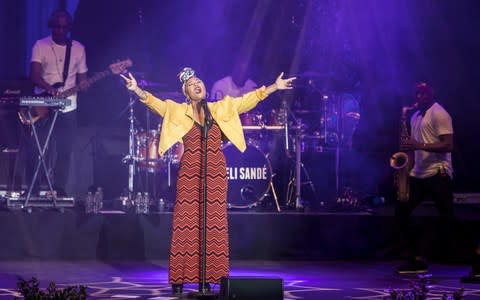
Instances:
[[[202,226],[202,130],[198,124],[183,137],[184,153],[177,178],[170,249],[170,284],[200,282]],[[227,171],[222,132],[217,123],[207,144],[207,255],[206,281],[228,275]]]

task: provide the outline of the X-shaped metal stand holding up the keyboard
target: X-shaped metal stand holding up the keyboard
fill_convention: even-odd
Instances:
[[[28,118],[29,118],[30,121],[33,120],[31,108],[32,107],[29,107],[29,109],[28,109]],[[45,153],[48,149],[48,144],[50,142],[50,137],[52,136],[53,127],[55,126],[55,122],[57,121],[58,111],[59,111],[59,108],[52,108],[52,109],[54,110],[53,120],[50,123],[50,126],[48,128],[48,134],[47,134],[47,137],[45,139],[45,143],[43,144],[43,146],[40,143],[40,140],[38,138],[37,129],[35,127],[35,122],[32,122],[30,124],[30,126],[32,126],[33,136],[35,137],[35,144],[37,145],[37,149],[38,149],[38,162],[37,162],[37,166],[35,168],[35,173],[33,174],[32,182],[30,183],[30,186],[28,188],[27,197],[25,198],[25,202],[23,204],[23,207],[25,209],[27,209],[29,212],[31,211],[30,207],[29,207],[29,201],[30,201],[30,198],[32,196],[33,187],[35,186],[35,182],[37,181],[37,176],[38,176],[38,172],[40,171],[40,166],[43,166],[43,171],[45,173],[45,177],[47,178],[48,188],[50,190],[51,197],[52,197],[52,200],[53,200],[53,207],[57,208],[57,194],[53,191],[52,182],[50,180],[50,176],[48,176],[48,168],[47,168],[47,165],[45,163]]]

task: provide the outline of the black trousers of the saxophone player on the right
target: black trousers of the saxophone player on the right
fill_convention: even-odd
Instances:
[[[409,256],[424,256],[419,245],[418,229],[413,226],[411,214],[414,209],[425,200],[434,202],[435,207],[444,224],[444,234],[450,239],[454,232],[459,229],[459,223],[455,218],[453,207],[452,180],[447,174],[420,179],[410,177],[410,198],[407,202],[399,202],[395,210],[395,217],[403,240],[407,243]]]

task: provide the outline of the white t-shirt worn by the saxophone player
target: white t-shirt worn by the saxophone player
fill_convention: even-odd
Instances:
[[[415,112],[410,119],[410,125],[412,138],[420,143],[437,143],[440,141],[440,135],[453,134],[452,118],[437,102],[427,109],[425,116],[422,116],[419,111]],[[410,175],[427,178],[436,175],[442,167],[452,177],[452,154],[450,152],[436,153],[415,150],[415,165]]]

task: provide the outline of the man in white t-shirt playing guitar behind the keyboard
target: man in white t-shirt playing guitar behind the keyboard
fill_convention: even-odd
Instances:
[[[78,41],[69,38],[72,21],[72,16],[65,10],[53,12],[48,21],[51,35],[36,41],[33,46],[30,78],[35,84],[36,94],[56,96],[59,91],[76,85],[80,90],[88,87],[85,48]],[[71,104],[58,114],[52,136],[54,143],[50,145],[48,151],[56,152],[53,184],[54,189],[57,190],[57,196],[66,196],[65,184],[68,179],[73,139],[77,128],[77,95],[74,94],[68,98],[71,99]],[[43,109],[46,110],[46,108]],[[46,114],[38,112],[38,115]],[[45,117],[45,119],[49,118]],[[42,122],[48,121],[42,120]],[[43,143],[48,126],[37,126],[37,128],[40,130],[40,141]],[[53,146],[54,144],[56,147]],[[33,157],[36,158],[37,147],[29,148],[34,151]],[[32,170],[33,173],[33,169],[27,165],[27,172]]]

